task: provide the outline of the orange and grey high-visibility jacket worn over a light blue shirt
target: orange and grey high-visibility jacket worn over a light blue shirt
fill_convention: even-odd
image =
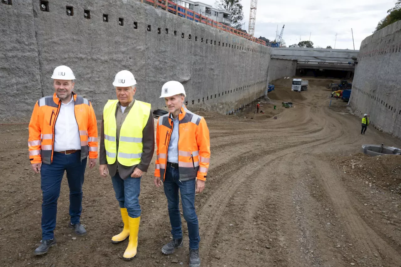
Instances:
[[[206,180],[210,160],[209,129],[203,117],[181,108],[178,129],[178,170],[180,180],[197,178]],[[168,144],[174,123],[170,113],[159,117],[156,126],[156,170],[154,175],[162,177],[166,174]]]

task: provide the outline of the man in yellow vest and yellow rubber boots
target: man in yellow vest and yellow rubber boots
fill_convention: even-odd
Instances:
[[[134,99],[136,81],[130,71],[120,71],[113,82],[117,100],[103,108],[99,172],[111,182],[124,228],[111,238],[113,244],[129,237],[124,260],[135,257],[141,216],[141,177],[148,171],[154,152],[154,124],[150,104]]]

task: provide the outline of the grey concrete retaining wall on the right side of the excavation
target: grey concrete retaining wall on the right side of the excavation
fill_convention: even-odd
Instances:
[[[401,21],[360,46],[349,105],[380,130],[401,138]]]

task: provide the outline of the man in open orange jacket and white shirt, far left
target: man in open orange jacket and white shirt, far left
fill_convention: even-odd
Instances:
[[[33,171],[41,174],[43,193],[42,241],[34,255],[45,254],[56,245],[53,231],[65,171],[70,188],[68,227],[77,235],[86,235],[80,222],[82,184],[87,157],[89,168],[97,159],[97,123],[91,102],[72,91],[75,76],[69,67],[55,68],[51,78],[55,93],[36,102],[29,123],[29,160]]]

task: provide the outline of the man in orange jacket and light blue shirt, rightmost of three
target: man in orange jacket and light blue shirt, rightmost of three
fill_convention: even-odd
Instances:
[[[183,245],[181,217],[178,208],[181,194],[182,211],[188,226],[189,266],[199,267],[199,225],[195,212],[195,192],[201,193],[209,168],[209,129],[203,117],[186,109],[184,86],[169,81],[162,87],[170,113],[159,117],[156,128],[156,170],[154,184],[159,187],[161,179],[168,201],[172,241],[162,247],[162,253],[174,253]]]

